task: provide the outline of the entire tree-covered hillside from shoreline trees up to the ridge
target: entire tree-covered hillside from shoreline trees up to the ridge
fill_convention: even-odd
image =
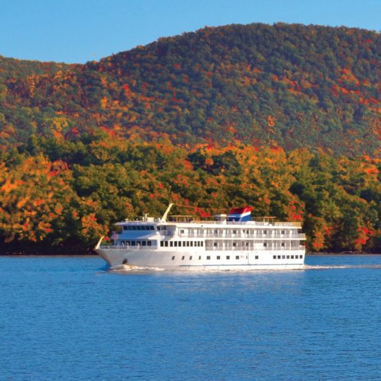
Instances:
[[[0,57],[0,253],[83,251],[168,202],[381,252],[380,54],[368,30],[251,24],[85,65]]]

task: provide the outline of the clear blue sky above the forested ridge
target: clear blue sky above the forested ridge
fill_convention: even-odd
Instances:
[[[204,26],[262,22],[381,30],[381,0],[0,0],[0,55],[78,62]]]

